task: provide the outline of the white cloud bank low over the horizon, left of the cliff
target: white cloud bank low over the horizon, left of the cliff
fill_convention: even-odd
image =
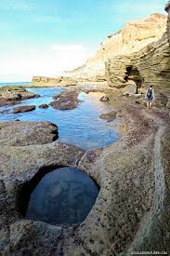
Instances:
[[[81,44],[54,44],[37,50],[15,49],[12,56],[0,59],[0,80],[7,77],[32,77],[33,75],[56,76],[64,70],[82,65],[94,52],[93,47]],[[10,76],[10,74],[12,74]]]

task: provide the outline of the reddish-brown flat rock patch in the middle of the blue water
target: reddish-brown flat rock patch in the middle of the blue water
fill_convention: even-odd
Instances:
[[[78,99],[78,92],[76,91],[65,91],[59,95],[53,97],[55,101],[52,101],[50,105],[53,108],[59,110],[72,110],[78,107],[80,100]]]

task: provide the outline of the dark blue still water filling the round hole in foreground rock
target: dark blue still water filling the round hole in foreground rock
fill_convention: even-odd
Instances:
[[[83,222],[95,204],[98,186],[77,168],[46,174],[30,198],[26,218],[50,224]]]

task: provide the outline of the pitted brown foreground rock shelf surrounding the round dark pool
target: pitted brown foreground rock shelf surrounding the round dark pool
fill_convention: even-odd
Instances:
[[[168,112],[127,104],[121,115],[126,124],[124,137],[97,150],[85,152],[58,141],[35,144],[34,136],[30,145],[22,141],[11,145],[10,138],[0,143],[2,253],[108,256],[128,255],[127,251],[135,249],[170,249],[164,239],[169,225]],[[42,126],[33,129],[40,132]],[[24,220],[20,212],[23,185],[51,168],[64,166],[83,169],[100,185],[85,222],[55,226]]]

